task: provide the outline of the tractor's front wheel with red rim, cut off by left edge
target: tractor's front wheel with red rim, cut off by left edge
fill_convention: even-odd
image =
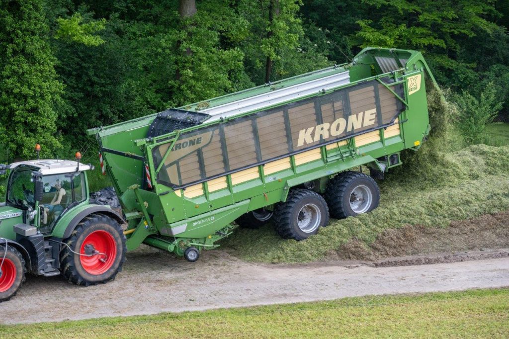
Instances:
[[[2,240],[0,240],[2,241]],[[26,266],[21,253],[12,246],[0,243],[0,263],[5,256],[0,277],[0,302],[14,297],[25,281]]]

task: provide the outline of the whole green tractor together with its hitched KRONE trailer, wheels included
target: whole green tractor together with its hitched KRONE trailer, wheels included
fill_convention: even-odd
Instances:
[[[10,170],[0,301],[25,271],[103,283],[142,243],[192,262],[231,234],[233,221],[257,228],[274,219],[282,237],[303,240],[329,214],[373,210],[373,178],[429,133],[426,76],[435,83],[417,51],[365,48],[350,64],[89,130],[123,215],[89,200],[88,165],[0,165]],[[371,176],[349,171],[361,165]]]

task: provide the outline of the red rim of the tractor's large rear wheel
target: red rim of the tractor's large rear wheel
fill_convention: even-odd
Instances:
[[[86,245],[94,246],[97,251],[104,253],[107,258],[99,254],[90,257],[79,256],[81,267],[83,267],[87,273],[94,275],[99,275],[109,270],[117,257],[117,243],[113,236],[106,231],[94,231],[89,234],[81,244],[81,249],[79,250],[81,254],[85,254]],[[103,263],[101,259],[106,259],[106,262]]]

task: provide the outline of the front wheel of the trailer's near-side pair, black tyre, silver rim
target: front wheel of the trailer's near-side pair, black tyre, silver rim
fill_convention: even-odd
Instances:
[[[306,223],[306,220],[309,220]],[[299,226],[299,221],[301,222]],[[273,224],[284,239],[309,238],[329,222],[329,208],[323,197],[308,189],[293,189],[285,203],[274,209]]]

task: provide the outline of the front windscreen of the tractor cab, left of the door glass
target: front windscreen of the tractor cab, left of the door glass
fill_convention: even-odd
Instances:
[[[32,182],[33,168],[19,166],[15,168],[9,182],[7,200],[21,207],[35,206],[34,183]]]

